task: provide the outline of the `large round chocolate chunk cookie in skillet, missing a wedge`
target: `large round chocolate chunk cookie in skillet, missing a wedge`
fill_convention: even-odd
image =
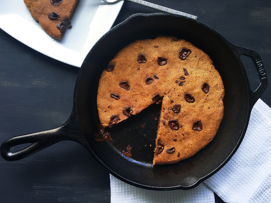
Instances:
[[[153,164],[179,162],[215,136],[224,86],[212,60],[175,37],[135,41],[101,74],[97,106],[103,127],[162,103]]]

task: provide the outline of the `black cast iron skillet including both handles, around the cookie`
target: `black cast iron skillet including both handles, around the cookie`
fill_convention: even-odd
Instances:
[[[213,141],[193,157],[176,164],[152,166],[160,105],[151,105],[111,130],[114,142],[97,142],[99,132],[97,88],[101,72],[121,48],[137,39],[157,35],[176,36],[206,52],[219,71],[225,87],[224,117]],[[250,90],[240,55],[253,59],[259,76],[257,90]],[[133,77],[131,76],[131,79]],[[1,145],[5,160],[25,158],[54,143],[76,141],[118,179],[154,190],[191,189],[221,169],[238,149],[249,123],[251,109],[268,85],[259,54],[229,43],[205,24],[172,14],[136,14],[108,31],[86,56],[74,90],[71,116],[61,127],[16,136]],[[141,125],[145,124],[144,128]],[[32,143],[10,152],[10,147]],[[130,145],[131,158],[122,155]],[[150,146],[151,145],[151,146]]]

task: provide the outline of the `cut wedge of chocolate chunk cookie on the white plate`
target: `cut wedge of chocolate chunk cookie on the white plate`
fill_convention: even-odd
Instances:
[[[31,16],[51,37],[61,39],[79,0],[24,0]]]

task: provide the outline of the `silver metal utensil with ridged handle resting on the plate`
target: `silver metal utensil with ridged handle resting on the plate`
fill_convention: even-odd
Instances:
[[[118,0],[102,0],[102,1],[105,1],[105,2],[108,2],[108,3],[114,3],[114,2],[116,2]],[[147,2],[147,1],[142,1],[142,0],[128,0],[128,1],[131,1],[133,3],[138,3],[140,5],[147,6],[147,7],[150,7],[150,8],[159,10],[159,11],[163,11],[163,12],[166,12],[166,13],[176,14],[176,15],[180,15],[180,16],[186,16],[188,18],[193,18],[193,19],[197,20],[197,16],[193,16],[193,15],[190,15],[190,14],[187,14],[187,13],[184,13],[184,12],[176,11],[174,9],[167,8],[167,7],[164,7],[164,6],[160,6],[160,5],[150,3],[150,2]]]

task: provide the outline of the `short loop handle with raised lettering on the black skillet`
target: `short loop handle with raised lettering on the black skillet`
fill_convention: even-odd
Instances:
[[[255,91],[250,90],[251,96],[252,96],[252,106],[251,106],[252,108],[268,86],[268,79],[267,79],[266,71],[264,68],[264,64],[261,61],[261,58],[257,52],[251,49],[238,46],[238,45],[234,45],[234,46],[235,46],[235,53],[239,57],[240,62],[241,62],[241,59],[240,59],[241,55],[250,57],[253,60],[254,66],[258,73],[259,85]]]

